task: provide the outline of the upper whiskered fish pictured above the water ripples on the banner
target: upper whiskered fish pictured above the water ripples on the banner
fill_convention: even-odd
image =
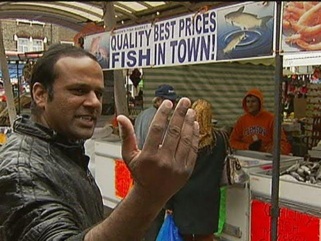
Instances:
[[[273,18],[272,16],[266,16],[258,18],[257,15],[244,13],[244,6],[239,8],[235,12],[228,13],[225,15],[225,22],[232,24],[233,26],[239,27],[242,30],[253,29],[253,28],[267,28],[266,23]]]

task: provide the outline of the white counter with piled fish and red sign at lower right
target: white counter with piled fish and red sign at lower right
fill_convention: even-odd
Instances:
[[[278,240],[318,241],[320,233],[321,168],[319,162],[301,162],[280,168]],[[250,174],[251,240],[268,240],[271,171]],[[261,215],[253,215],[253,213]]]

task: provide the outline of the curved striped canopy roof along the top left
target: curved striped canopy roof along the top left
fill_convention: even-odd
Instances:
[[[0,2],[0,19],[27,19],[80,31],[92,21],[103,25],[104,2]],[[117,28],[218,8],[240,2],[113,2]]]

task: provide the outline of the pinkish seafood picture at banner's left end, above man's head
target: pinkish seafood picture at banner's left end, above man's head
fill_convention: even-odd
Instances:
[[[94,55],[103,70],[109,68],[110,32],[85,36],[84,49]]]

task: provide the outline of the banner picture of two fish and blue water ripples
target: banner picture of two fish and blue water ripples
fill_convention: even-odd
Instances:
[[[273,3],[245,4],[218,11],[218,15],[219,22],[225,23],[218,26],[218,60],[271,54]]]

